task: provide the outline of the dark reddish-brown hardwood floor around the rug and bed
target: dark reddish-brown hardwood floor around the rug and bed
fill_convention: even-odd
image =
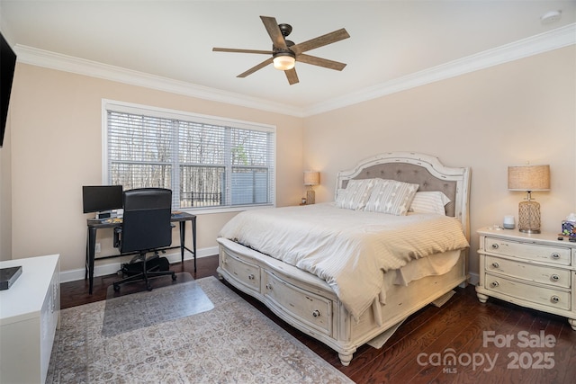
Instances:
[[[217,276],[218,257],[199,258],[197,266],[195,273],[190,261],[171,268],[189,272],[194,279]],[[93,295],[88,294],[86,281],[62,283],[61,308],[105,299],[108,287],[118,278],[94,278]],[[130,293],[129,287],[123,286],[121,292]],[[286,325],[257,300],[235,291],[357,383],[576,382],[576,331],[564,317],[497,299],[481,304],[470,285],[457,288],[443,307],[429,305],[409,317],[383,348],[360,346],[347,367],[328,346]]]

